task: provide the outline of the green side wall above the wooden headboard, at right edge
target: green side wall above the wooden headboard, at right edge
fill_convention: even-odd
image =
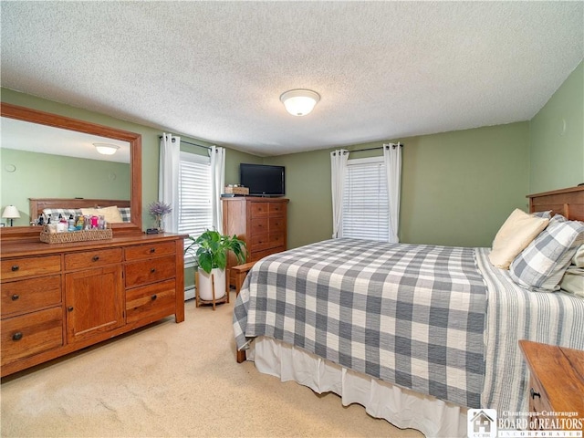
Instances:
[[[529,122],[529,192],[584,183],[584,63]]]

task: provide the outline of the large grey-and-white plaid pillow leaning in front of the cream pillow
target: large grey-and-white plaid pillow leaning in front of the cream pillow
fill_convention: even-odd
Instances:
[[[547,228],[527,245],[509,266],[509,275],[522,287],[538,292],[553,292],[576,254],[584,244],[584,223],[567,221],[555,215]]]

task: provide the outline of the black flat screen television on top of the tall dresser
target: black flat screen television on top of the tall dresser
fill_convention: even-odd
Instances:
[[[284,166],[266,164],[239,164],[239,183],[252,196],[284,196]]]

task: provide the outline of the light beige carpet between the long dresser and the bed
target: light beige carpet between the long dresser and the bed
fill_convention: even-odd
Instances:
[[[8,376],[2,436],[422,436],[236,363],[233,306],[188,301],[181,324],[166,318]]]

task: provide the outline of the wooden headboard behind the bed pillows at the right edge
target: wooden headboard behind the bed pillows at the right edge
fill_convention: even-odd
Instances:
[[[584,186],[528,194],[529,213],[552,211],[572,221],[584,221]]]

